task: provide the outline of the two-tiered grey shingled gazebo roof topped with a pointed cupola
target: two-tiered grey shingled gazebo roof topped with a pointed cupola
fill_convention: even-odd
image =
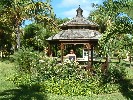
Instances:
[[[82,15],[83,10],[79,8],[76,10],[77,15],[70,21],[60,25],[62,31],[54,36],[49,37],[48,41],[59,40],[97,40],[101,37],[101,33],[97,31],[98,25],[87,19]]]

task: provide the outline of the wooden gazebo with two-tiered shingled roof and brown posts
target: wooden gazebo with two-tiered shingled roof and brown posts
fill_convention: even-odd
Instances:
[[[93,48],[97,45],[101,33],[98,32],[98,25],[82,15],[83,10],[76,10],[77,15],[68,22],[60,25],[61,31],[47,39],[50,45],[60,44],[61,46],[61,62],[63,62],[64,45],[66,44],[83,44],[88,49],[88,65],[93,64]],[[77,60],[78,61],[78,60]]]

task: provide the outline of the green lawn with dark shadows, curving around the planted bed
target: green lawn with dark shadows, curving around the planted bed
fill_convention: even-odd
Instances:
[[[128,80],[133,84],[133,67],[126,67]],[[119,93],[92,95],[92,96],[63,96],[45,94],[27,88],[17,88],[7,79],[15,73],[14,65],[10,61],[0,61],[0,100],[133,100],[133,87],[125,90],[124,86]],[[128,82],[127,82],[128,84]]]

